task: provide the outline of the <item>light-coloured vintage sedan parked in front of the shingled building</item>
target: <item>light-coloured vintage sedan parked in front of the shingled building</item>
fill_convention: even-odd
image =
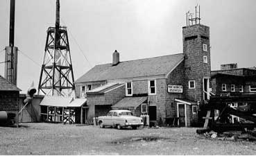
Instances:
[[[119,130],[128,126],[136,130],[143,125],[142,118],[133,116],[133,112],[129,110],[110,110],[107,116],[99,116],[98,121],[100,128],[111,126]]]

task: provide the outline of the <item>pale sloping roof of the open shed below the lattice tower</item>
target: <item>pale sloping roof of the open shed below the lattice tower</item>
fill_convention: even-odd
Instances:
[[[63,96],[44,96],[40,105],[51,107],[81,107],[86,103],[86,98],[72,98]]]

